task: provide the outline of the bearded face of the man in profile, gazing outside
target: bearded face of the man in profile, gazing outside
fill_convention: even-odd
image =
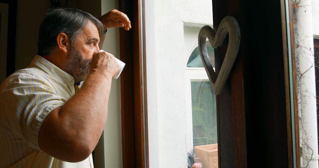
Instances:
[[[95,53],[100,51],[100,37],[96,26],[89,22],[71,44],[66,60],[66,72],[73,76],[75,82],[84,81],[90,72],[89,65]]]

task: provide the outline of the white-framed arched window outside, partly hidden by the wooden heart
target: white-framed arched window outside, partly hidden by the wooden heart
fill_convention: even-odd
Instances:
[[[206,44],[214,65],[214,48],[209,42]],[[187,149],[195,156],[195,146],[217,144],[216,95],[204,69],[198,44],[186,60]]]

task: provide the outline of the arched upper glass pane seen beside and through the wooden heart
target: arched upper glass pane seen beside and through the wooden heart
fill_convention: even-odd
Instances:
[[[212,62],[212,66],[215,67],[214,48],[211,46],[209,42],[206,43],[206,47],[207,47],[207,53],[208,53],[209,59]],[[187,62],[187,67],[204,68],[202,59],[200,58],[198,46],[190,54],[189,60]]]

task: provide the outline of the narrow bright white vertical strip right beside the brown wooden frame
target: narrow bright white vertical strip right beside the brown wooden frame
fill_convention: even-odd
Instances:
[[[145,43],[147,78],[147,115],[148,115],[148,155],[149,166],[159,168],[159,133],[157,100],[157,67],[155,49],[154,0],[145,1]]]

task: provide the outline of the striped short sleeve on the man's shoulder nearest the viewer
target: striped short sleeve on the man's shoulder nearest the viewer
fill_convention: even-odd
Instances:
[[[47,115],[67,101],[49,81],[35,75],[20,75],[7,82],[1,92],[1,120],[29,146],[39,148],[39,130]]]

